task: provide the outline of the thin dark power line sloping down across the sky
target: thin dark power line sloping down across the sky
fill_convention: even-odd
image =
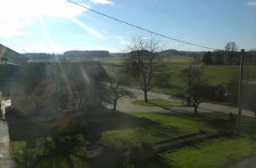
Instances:
[[[209,50],[218,50],[218,49],[214,49],[214,48],[209,47],[209,46],[202,46],[202,45],[194,44],[194,43],[192,43],[192,42],[186,42],[186,41],[183,41],[183,40],[179,40],[179,39],[177,39],[177,38],[170,38],[170,37],[167,36],[167,35],[160,34],[160,33],[154,32],[154,31],[152,31],[152,30],[147,30],[146,28],[142,28],[141,26],[136,26],[136,25],[134,25],[134,24],[132,24],[132,23],[130,23],[130,22],[122,21],[122,20],[120,20],[120,19],[118,19],[118,18],[111,17],[110,15],[107,15],[107,14],[102,14],[101,12],[98,12],[98,11],[96,11],[96,10],[92,10],[92,9],[90,9],[89,7],[82,6],[81,4],[79,4],[79,3],[77,3],[77,2],[73,2],[73,1],[71,1],[71,0],[66,0],[66,1],[68,1],[68,2],[70,2],[70,3],[73,3],[74,5],[80,6],[80,7],[82,7],[82,8],[85,8],[86,10],[90,10],[90,11],[96,13],[96,14],[100,14],[100,15],[106,17],[106,18],[110,18],[110,19],[112,19],[112,20],[114,20],[114,21],[121,22],[121,23],[126,24],[126,25],[128,25],[128,26],[133,26],[133,27],[135,27],[135,28],[137,28],[137,29],[139,29],[139,30],[144,30],[144,31],[146,31],[146,32],[148,32],[148,33],[150,33],[150,34],[155,34],[155,35],[161,36],[162,38],[168,38],[168,39],[174,40],[174,41],[176,41],[176,42],[182,42],[182,43],[185,43],[185,44],[188,44],[188,45],[191,45],[191,46],[198,46],[198,47],[205,48],[205,49],[209,49]]]

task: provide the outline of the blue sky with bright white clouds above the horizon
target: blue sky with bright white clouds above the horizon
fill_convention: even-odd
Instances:
[[[255,0],[74,0],[171,38],[222,50],[256,49]],[[0,43],[20,53],[126,52],[133,36],[151,34],[66,0],[0,0]],[[161,38],[161,49],[206,50]]]

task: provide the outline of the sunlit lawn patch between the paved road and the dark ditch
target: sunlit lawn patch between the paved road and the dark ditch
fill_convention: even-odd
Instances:
[[[188,134],[197,134],[200,131],[216,132],[214,126],[210,126],[209,122],[204,122],[201,118],[193,116],[166,113],[131,113],[131,115],[150,121],[151,124],[121,130],[107,130],[103,133],[101,142],[120,149],[126,144],[154,143]],[[126,123],[123,122],[123,124]]]

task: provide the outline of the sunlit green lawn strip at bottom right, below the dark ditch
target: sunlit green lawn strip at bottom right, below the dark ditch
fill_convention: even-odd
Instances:
[[[161,154],[168,165],[178,168],[222,167],[256,154],[256,141],[250,138],[221,138]]]

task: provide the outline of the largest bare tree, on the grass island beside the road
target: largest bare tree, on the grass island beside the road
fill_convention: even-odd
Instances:
[[[166,65],[162,62],[159,40],[154,37],[134,36],[128,44],[129,54],[126,57],[126,70],[138,82],[144,92],[144,101],[148,102],[147,92],[168,80]]]

